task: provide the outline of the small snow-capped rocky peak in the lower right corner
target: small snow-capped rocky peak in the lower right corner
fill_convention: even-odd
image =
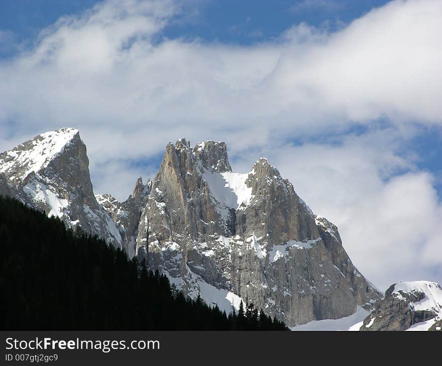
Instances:
[[[360,330],[440,330],[442,288],[435,282],[391,285]]]

